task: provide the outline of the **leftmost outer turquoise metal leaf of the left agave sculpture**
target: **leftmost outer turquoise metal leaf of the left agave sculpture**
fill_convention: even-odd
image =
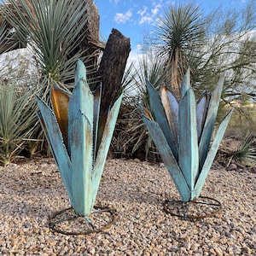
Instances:
[[[42,118],[44,119],[44,124],[41,121],[44,133],[48,138],[50,148],[55,157],[57,166],[59,167],[61,179],[64,183],[65,188],[67,189],[67,195],[69,199],[72,201],[72,165],[70,158],[67,154],[67,149],[63,142],[63,138],[61,136],[61,130],[59,128],[57,119],[55,118],[55,113],[53,113],[53,111],[39,97],[37,97],[37,100],[38,107],[42,114]]]

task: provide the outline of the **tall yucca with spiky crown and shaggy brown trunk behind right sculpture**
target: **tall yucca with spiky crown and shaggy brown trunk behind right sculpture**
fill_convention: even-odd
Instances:
[[[179,96],[179,86],[189,66],[188,54],[202,43],[204,23],[201,11],[194,3],[170,4],[156,26],[160,57],[166,60],[166,83]]]

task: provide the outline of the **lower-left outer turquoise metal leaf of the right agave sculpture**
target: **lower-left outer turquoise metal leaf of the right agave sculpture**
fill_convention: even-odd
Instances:
[[[161,159],[164,161],[168,172],[170,173],[173,182],[177,188],[177,191],[181,195],[183,201],[189,201],[190,198],[190,189],[181,172],[179,166],[177,165],[177,160],[172,154],[172,150],[166,142],[166,137],[161,131],[160,126],[148,119],[145,115],[143,115],[143,122],[148,128],[148,132],[154,141],[156,148],[158,149]]]

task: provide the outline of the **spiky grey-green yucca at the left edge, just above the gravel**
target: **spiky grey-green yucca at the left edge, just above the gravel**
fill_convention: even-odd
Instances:
[[[0,85],[0,163],[9,165],[32,141],[37,104],[30,90]]]

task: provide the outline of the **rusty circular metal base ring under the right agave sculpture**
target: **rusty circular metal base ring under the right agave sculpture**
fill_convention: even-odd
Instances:
[[[209,218],[222,211],[221,203],[207,196],[200,196],[194,201],[166,200],[164,211],[179,218]]]

